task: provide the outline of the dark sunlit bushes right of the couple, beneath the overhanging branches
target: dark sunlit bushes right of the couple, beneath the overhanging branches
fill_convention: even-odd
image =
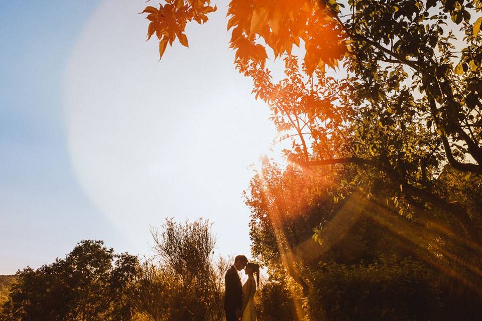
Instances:
[[[466,319],[480,317],[472,306],[479,304],[481,279],[478,269],[471,270],[480,257],[453,235],[397,215],[377,196],[352,193],[335,203],[330,190],[350,173],[330,174],[335,181],[320,182],[312,173],[265,164],[245,194],[252,252],[272,282],[305,283],[288,297],[304,298],[306,317],[448,320],[460,311]],[[445,175],[454,173],[444,171],[440,180]],[[313,238],[314,221],[321,223]]]

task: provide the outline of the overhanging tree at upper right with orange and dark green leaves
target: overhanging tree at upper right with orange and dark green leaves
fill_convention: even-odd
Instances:
[[[184,26],[180,13],[194,3],[210,4],[170,0],[146,8],[148,36],[173,41],[177,27],[168,22]],[[475,179],[482,174],[481,19],[471,19],[481,9],[478,0],[232,0],[227,28],[235,67],[253,79],[256,98],[286,132],[282,139],[292,139],[285,150],[291,162],[306,171],[338,164],[354,171],[334,199],[361,189],[370,196],[383,183],[381,199],[427,229],[432,209],[448,215],[446,228],[478,255],[478,213],[449,202],[434,185],[447,163]],[[463,40],[450,30],[457,26]],[[293,46],[303,43],[300,64]],[[279,83],[265,67],[268,49],[284,57]],[[341,72],[329,76],[326,67]]]

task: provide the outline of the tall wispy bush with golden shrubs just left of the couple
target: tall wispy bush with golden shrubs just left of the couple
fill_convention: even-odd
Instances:
[[[168,219],[160,231],[152,230],[160,264],[148,260],[138,266],[128,291],[136,312],[155,321],[222,319],[228,263],[223,259],[214,262],[215,240],[210,228],[202,219],[185,224]]]

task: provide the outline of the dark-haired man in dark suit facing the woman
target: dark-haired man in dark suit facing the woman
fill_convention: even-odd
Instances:
[[[226,321],[237,321],[241,317],[243,307],[243,286],[237,271],[245,268],[248,259],[244,255],[234,258],[234,264],[227,270],[224,276],[224,311]]]

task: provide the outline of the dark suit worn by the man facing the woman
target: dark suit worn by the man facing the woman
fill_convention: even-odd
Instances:
[[[243,286],[237,270],[231,266],[224,276],[224,311],[226,321],[237,321],[236,310],[243,307]]]

